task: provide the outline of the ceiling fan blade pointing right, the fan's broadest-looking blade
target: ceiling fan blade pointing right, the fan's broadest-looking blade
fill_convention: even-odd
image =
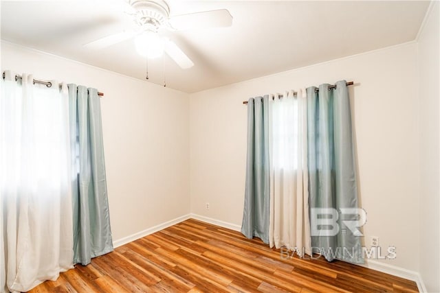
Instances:
[[[226,9],[219,9],[173,16],[169,22],[176,30],[230,27],[232,25],[232,15]]]

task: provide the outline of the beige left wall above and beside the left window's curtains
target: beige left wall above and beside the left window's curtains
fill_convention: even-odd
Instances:
[[[190,212],[188,94],[1,43],[1,69],[96,87],[113,240]]]

